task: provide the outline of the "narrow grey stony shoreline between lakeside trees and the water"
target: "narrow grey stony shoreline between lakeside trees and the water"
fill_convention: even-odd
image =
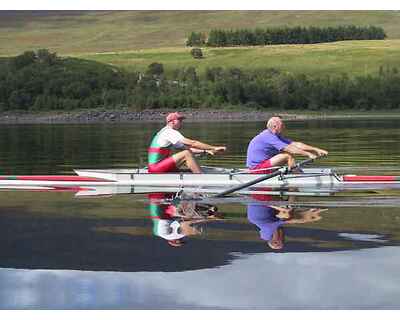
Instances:
[[[135,111],[131,109],[90,109],[76,110],[71,112],[25,112],[13,111],[0,113],[1,124],[84,124],[84,123],[140,123],[140,122],[163,122],[169,112],[177,109],[147,109]],[[266,121],[271,116],[280,116],[285,121],[294,120],[332,120],[332,119],[367,119],[367,118],[392,118],[399,117],[393,111],[385,112],[288,112],[277,110],[179,110],[186,117],[186,122],[220,122],[220,121]]]

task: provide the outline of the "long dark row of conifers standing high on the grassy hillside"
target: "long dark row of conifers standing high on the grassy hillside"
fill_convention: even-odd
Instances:
[[[189,34],[186,45],[208,47],[257,46],[276,44],[310,44],[344,40],[382,40],[386,33],[376,26],[336,26],[336,27],[274,27],[254,30],[212,29]]]

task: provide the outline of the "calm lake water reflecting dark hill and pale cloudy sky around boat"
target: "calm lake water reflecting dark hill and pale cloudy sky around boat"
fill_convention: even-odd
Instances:
[[[203,164],[242,167],[248,141],[263,126],[187,123],[183,133],[227,145]],[[0,174],[137,167],[159,127],[2,125]],[[329,150],[320,166],[400,175],[397,119],[288,122],[287,136]],[[273,200],[285,208],[289,199]],[[164,220],[153,216],[163,203],[144,195],[3,190],[0,308],[398,309],[398,195],[296,201],[314,204],[296,209],[298,223],[282,226],[282,249],[263,239],[273,222],[257,224],[270,207],[248,203],[217,203],[222,219],[181,222],[186,236],[176,247],[161,237]],[[327,210],[312,210],[319,208]]]

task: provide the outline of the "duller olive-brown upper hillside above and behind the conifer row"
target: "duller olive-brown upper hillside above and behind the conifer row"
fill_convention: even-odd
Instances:
[[[183,48],[191,31],[285,25],[376,25],[400,39],[399,22],[397,11],[0,11],[0,55]]]

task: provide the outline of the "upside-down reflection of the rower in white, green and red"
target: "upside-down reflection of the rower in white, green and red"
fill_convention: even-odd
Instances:
[[[186,237],[202,234],[204,223],[223,218],[213,205],[181,201],[166,193],[152,193],[148,197],[153,234],[173,247],[184,245]]]

